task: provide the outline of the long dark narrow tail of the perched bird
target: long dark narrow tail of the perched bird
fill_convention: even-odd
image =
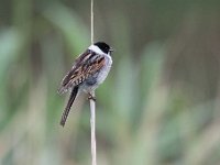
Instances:
[[[68,102],[66,105],[66,108],[62,114],[62,120],[61,120],[61,125],[64,127],[65,123],[66,123],[66,119],[68,117],[68,113],[69,113],[69,110],[72,108],[72,105],[77,96],[77,92],[78,92],[78,86],[74,87],[74,89],[72,90],[72,94],[69,96],[69,99],[68,99]]]

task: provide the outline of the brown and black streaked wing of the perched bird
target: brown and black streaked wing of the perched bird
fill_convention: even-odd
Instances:
[[[78,86],[85,79],[96,74],[106,64],[103,55],[98,55],[89,50],[76,58],[74,66],[62,80],[58,89],[59,94],[64,94],[70,87]]]

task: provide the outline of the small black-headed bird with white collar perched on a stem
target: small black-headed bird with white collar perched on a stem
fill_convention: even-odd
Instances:
[[[79,92],[88,94],[88,99],[96,101],[92,92],[105,81],[111,69],[112,52],[112,47],[107,43],[96,42],[75,59],[57,90],[59,95],[70,91],[59,122],[62,127],[65,125],[72,105]]]

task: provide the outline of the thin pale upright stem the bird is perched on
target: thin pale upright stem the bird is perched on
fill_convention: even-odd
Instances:
[[[91,44],[94,44],[94,0],[91,0]],[[95,98],[95,91],[91,94]],[[91,165],[97,165],[96,160],[96,102],[90,99],[91,125]]]

